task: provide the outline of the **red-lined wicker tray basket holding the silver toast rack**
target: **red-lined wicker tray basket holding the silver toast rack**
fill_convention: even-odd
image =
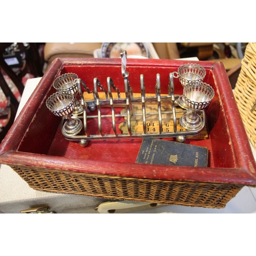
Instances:
[[[169,97],[169,74],[176,72],[186,62],[127,59],[126,67],[130,73],[129,83],[133,94],[141,94],[140,75],[143,74],[146,94],[153,94],[157,105],[156,74],[160,74],[162,105],[165,100],[162,96]],[[94,90],[94,78],[97,77],[105,84],[104,81],[111,77],[115,87],[125,95],[120,58],[55,59],[1,143],[0,163],[12,167],[31,188],[40,191],[113,200],[225,207],[243,186],[256,186],[256,166],[223,64],[208,61],[197,63],[205,68],[204,82],[212,86],[215,96],[204,110],[208,139],[186,139],[184,143],[208,148],[207,167],[136,163],[142,142],[138,137],[93,139],[88,140],[86,147],[81,147],[78,142],[70,141],[62,135],[63,120],[50,113],[46,106],[47,98],[56,92],[52,86],[54,80],[61,74],[75,73],[91,91]],[[81,89],[83,95],[87,93],[83,86]],[[183,87],[178,79],[174,79],[174,90],[175,95],[183,94]],[[168,102],[173,103],[172,95],[169,98]],[[122,109],[126,110],[126,106],[130,104],[129,100],[126,102],[126,96],[124,99]],[[131,97],[132,105],[133,100]],[[139,101],[141,104],[141,97]],[[149,101],[150,98],[146,97],[145,104]],[[100,104],[102,116],[108,115],[105,113],[106,109],[111,110],[111,106],[103,107],[103,102],[104,100]],[[115,117],[116,108],[115,106]],[[170,110],[172,111],[172,105]],[[95,113],[89,113],[88,110],[86,113],[88,116],[97,113],[97,104]],[[115,136],[111,132],[113,122],[112,114],[110,115],[101,120],[103,137],[105,134]],[[96,126],[91,127],[94,119],[97,120],[87,118],[90,136],[99,128],[98,121],[95,122]],[[107,128],[109,132],[105,132]],[[99,131],[97,133],[97,136],[101,136]],[[174,140],[177,136],[175,133],[174,135],[162,139]]]

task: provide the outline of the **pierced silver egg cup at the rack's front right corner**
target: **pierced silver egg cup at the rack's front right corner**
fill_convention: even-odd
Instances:
[[[203,121],[197,112],[210,104],[214,98],[214,89],[207,83],[196,81],[188,83],[183,89],[183,94],[188,110],[180,118],[180,124],[189,131],[200,130]]]

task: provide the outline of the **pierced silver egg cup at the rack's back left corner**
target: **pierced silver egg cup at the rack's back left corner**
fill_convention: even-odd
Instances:
[[[83,108],[76,95],[78,94],[78,76],[74,73],[66,73],[58,76],[54,82],[53,87],[57,91],[70,91],[74,95],[75,106],[73,114],[80,115],[83,113]]]

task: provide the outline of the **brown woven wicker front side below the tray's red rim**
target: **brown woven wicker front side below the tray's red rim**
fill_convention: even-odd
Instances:
[[[241,184],[179,182],[10,165],[31,188],[100,198],[224,208]]]

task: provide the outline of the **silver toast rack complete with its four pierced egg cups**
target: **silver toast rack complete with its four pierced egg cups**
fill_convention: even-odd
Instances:
[[[53,114],[62,117],[61,132],[67,140],[79,141],[81,146],[88,145],[90,140],[131,138],[174,137],[184,142],[187,136],[203,131],[206,123],[204,108],[214,97],[214,90],[202,82],[205,76],[202,66],[188,63],[182,67],[182,73],[169,73],[168,93],[164,95],[161,94],[160,74],[156,75],[154,95],[145,93],[144,76],[141,74],[141,93],[135,96],[126,71],[126,59],[124,51],[121,53],[124,93],[120,93],[111,77],[106,80],[107,89],[95,77],[92,91],[74,73],[62,74],[55,79],[53,86],[57,93],[51,95],[46,104]],[[183,95],[175,96],[174,78],[180,79]],[[91,99],[84,98],[82,88],[85,94],[92,96]],[[77,94],[79,100],[76,99]],[[70,95],[74,99],[71,100]],[[181,124],[184,129],[178,129]]]

